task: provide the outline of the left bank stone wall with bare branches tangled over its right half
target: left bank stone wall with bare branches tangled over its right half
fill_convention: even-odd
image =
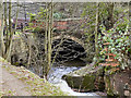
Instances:
[[[43,76],[45,48],[44,38],[40,39],[35,33],[26,33],[14,36],[9,61],[13,65],[23,65],[33,71],[35,74]]]

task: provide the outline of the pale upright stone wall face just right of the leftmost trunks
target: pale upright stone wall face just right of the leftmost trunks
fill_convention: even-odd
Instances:
[[[13,36],[12,50],[10,54],[10,62],[14,65],[27,64],[28,61],[28,44],[29,39],[32,45],[34,38],[32,34],[21,34]]]

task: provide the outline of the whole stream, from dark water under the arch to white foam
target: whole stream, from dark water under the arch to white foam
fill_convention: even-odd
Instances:
[[[61,63],[59,65],[53,65],[48,74],[48,82],[53,84],[55,86],[60,87],[60,89],[64,93],[68,93],[71,96],[97,96],[95,93],[76,93],[71,87],[69,87],[68,83],[62,79],[62,76],[73,72],[75,70],[81,69],[82,66],[85,66],[86,63],[82,60],[73,60],[68,61],[64,63]]]

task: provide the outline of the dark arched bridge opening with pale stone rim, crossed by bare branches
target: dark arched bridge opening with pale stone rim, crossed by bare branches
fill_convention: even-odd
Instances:
[[[84,44],[82,41],[80,41],[79,38],[75,37],[71,37],[71,36],[57,36],[53,37],[52,39],[52,48],[55,51],[52,51],[52,58],[55,57],[55,52],[57,50],[58,47],[56,47],[57,45],[60,44],[61,38],[63,38],[63,41],[61,42],[59,50],[57,52],[58,53],[58,58],[59,60],[62,60],[63,58],[70,58],[69,60],[73,60],[76,58],[85,58],[86,57],[86,52],[85,52],[85,48],[83,47]],[[56,49],[55,49],[56,48]]]

